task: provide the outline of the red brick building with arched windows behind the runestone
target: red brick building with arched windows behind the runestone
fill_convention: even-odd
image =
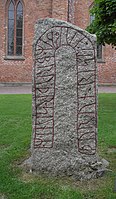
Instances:
[[[0,0],[0,84],[30,83],[34,24],[57,18],[85,29],[93,0]],[[116,51],[99,47],[99,84],[116,84]]]

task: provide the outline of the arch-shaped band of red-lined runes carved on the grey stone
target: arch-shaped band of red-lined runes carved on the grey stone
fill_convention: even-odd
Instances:
[[[48,28],[35,44],[33,145],[34,148],[54,147],[55,56],[64,46],[75,52],[77,151],[93,155],[96,152],[97,125],[95,49],[86,34],[69,26]]]

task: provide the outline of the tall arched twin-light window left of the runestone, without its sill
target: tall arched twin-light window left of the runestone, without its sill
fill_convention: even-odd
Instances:
[[[21,56],[23,46],[23,4],[10,0],[8,4],[7,55]]]

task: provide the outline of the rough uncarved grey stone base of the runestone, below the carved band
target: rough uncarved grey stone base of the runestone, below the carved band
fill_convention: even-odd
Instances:
[[[44,174],[47,177],[72,177],[76,180],[89,180],[102,177],[107,170],[109,163],[98,157],[82,157],[78,155],[63,155],[58,156],[58,151],[55,155],[48,156],[35,152],[28,160],[23,163],[26,170],[36,172],[37,174]]]

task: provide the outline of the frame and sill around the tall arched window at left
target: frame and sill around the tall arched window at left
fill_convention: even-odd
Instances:
[[[9,55],[8,54],[8,42],[9,42],[9,6],[11,1],[14,3],[14,55]],[[23,20],[22,20],[22,54],[21,55],[17,55],[16,54],[16,31],[17,31],[17,26],[16,26],[16,22],[17,22],[17,6],[19,4],[19,2],[21,2],[22,4],[22,8],[23,8]],[[22,0],[8,0],[6,2],[6,57],[5,60],[25,60],[24,58],[24,3]]]

